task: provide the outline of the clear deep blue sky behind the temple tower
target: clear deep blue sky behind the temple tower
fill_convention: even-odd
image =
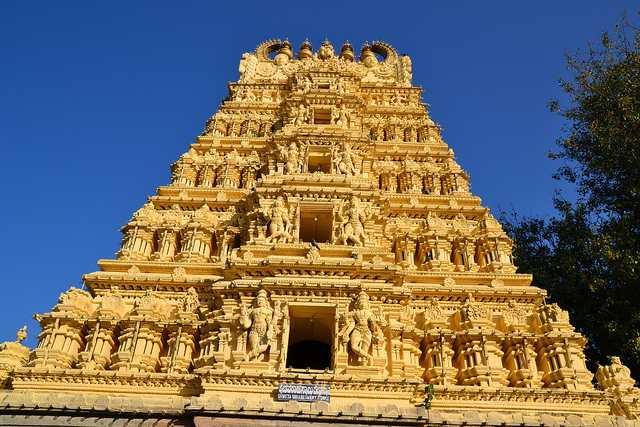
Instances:
[[[393,5],[394,9],[389,9]],[[433,119],[494,211],[552,213],[564,55],[637,1],[0,2],[0,341],[111,258],[119,228],[268,38],[413,58]]]

